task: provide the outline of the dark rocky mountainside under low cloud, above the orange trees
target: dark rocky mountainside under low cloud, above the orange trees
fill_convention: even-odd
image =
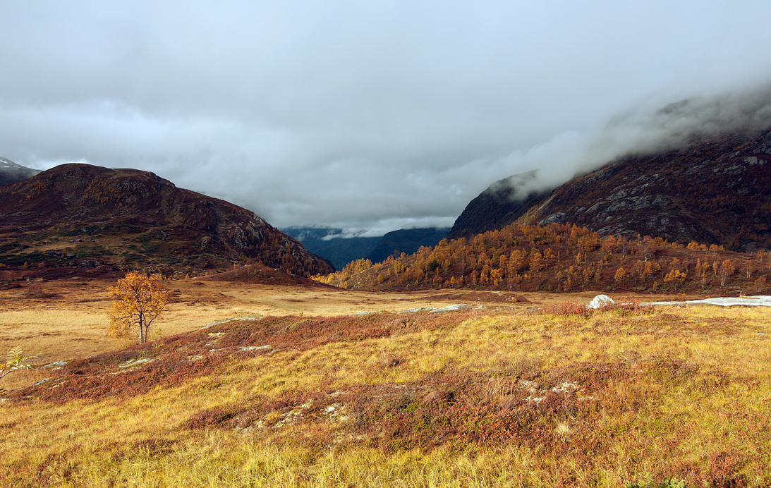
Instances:
[[[515,221],[556,222],[601,235],[771,248],[771,132],[694,137],[677,149],[621,157],[545,194],[524,200],[512,194],[506,185],[490,187],[466,207],[451,235]]]

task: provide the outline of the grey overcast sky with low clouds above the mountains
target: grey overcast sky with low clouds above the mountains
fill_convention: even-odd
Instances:
[[[570,177],[618,113],[771,81],[768,0],[0,0],[0,19],[0,156],[150,170],[277,227],[449,227],[495,180]]]

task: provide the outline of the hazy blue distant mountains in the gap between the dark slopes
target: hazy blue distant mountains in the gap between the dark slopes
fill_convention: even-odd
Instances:
[[[345,268],[345,264],[366,257],[381,238],[331,237],[342,235],[342,229],[332,227],[286,227],[281,231],[300,241],[308,251],[331,261],[336,269]]]

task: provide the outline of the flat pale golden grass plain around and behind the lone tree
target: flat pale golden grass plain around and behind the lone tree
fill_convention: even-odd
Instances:
[[[106,315],[112,303],[107,287],[114,284],[100,280],[46,282],[43,298],[29,298],[25,288],[0,291],[0,352],[20,345],[25,352],[34,352],[38,356],[34,363],[42,365],[122,347],[106,335]],[[377,294],[190,280],[168,281],[167,285],[174,298],[151,329],[156,338],[241,316],[348,315],[440,308],[457,302],[433,299],[439,291]]]

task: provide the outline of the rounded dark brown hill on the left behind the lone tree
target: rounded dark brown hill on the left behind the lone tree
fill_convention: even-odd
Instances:
[[[197,273],[255,262],[311,276],[332,264],[261,217],[154,173],[62,164],[0,187],[0,262]]]

